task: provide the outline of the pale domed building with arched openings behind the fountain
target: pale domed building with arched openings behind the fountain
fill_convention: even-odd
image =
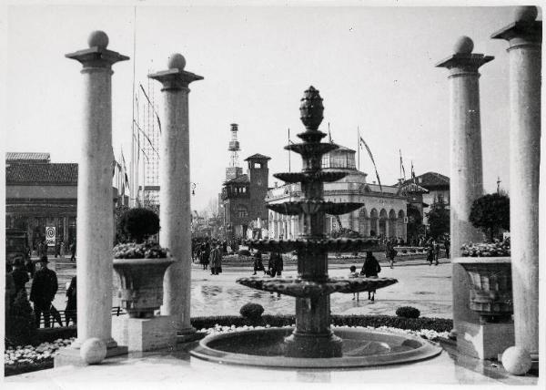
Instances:
[[[349,173],[345,178],[324,183],[324,199],[334,202],[359,202],[356,211],[340,215],[327,215],[326,234],[339,228],[358,231],[364,237],[388,237],[406,240],[406,210],[408,199],[399,193],[399,186],[369,184],[367,174],[356,169],[355,150],[339,146],[322,157],[322,169]],[[266,201],[280,203],[298,200],[299,183],[276,186],[268,190]],[[287,216],[269,210],[268,235],[271,239],[295,239],[299,235],[298,216]],[[341,226],[339,226],[341,224]]]

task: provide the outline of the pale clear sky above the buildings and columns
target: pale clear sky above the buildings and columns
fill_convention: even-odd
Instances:
[[[490,35],[513,21],[514,7],[356,4],[8,5],[5,150],[78,161],[81,66],[65,54],[86,48],[89,33],[100,29],[109,36],[109,49],[131,57],[113,67],[112,81],[114,151],[119,156],[123,149],[127,162],[133,67],[136,87],[147,88],[147,74],[167,69],[167,57],[178,52],[186,70],[205,77],[190,85],[189,94],[193,210],[206,208],[221,189],[230,123],[239,125],[243,167],[243,159],[261,153],[271,157],[271,174],[288,171],[288,128],[296,141],[304,130],[299,99],[311,85],[324,99],[320,129],[329,127],[336,143],[357,149],[359,128],[383,184],[399,178],[399,150],[407,177],[411,161],[417,175],[450,176],[448,71],[435,64],[465,35],[473,39],[474,53],[495,56],[480,68],[484,187],[496,190],[500,177],[508,189],[508,44]],[[162,116],[159,85],[149,85]],[[292,170],[300,168],[298,160],[292,154]],[[375,180],[362,152],[360,168]]]

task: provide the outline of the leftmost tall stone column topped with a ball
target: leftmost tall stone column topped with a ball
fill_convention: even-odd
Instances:
[[[108,36],[95,31],[89,48],[67,54],[83,65],[84,108],[77,185],[77,340],[96,337],[106,356],[126,352],[112,332],[112,65],[129,59],[106,49]],[[57,361],[56,361],[57,365]]]

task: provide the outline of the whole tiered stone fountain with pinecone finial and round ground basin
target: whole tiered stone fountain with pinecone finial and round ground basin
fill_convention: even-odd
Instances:
[[[370,292],[398,282],[392,278],[331,278],[328,252],[379,251],[377,239],[329,239],[325,236],[325,215],[345,214],[362,203],[335,203],[324,200],[324,182],[344,178],[346,172],[323,172],[322,155],[338,149],[321,143],[326,134],[319,131],[322,122],[322,98],[309,87],[301,99],[299,111],[306,131],[298,134],[303,142],[285,149],[301,155],[303,169],[295,173],[278,173],[280,180],[301,183],[301,198],[269,204],[270,210],[298,215],[300,234],[297,240],[248,241],[260,251],[298,253],[298,276],[295,278],[248,277],[238,283],[248,287],[296,298],[296,328],[268,328],[218,334],[203,339],[192,351],[194,356],[218,363],[250,364],[278,367],[349,367],[396,364],[440,354],[440,347],[421,339],[362,330],[330,329],[330,301],[333,292]]]

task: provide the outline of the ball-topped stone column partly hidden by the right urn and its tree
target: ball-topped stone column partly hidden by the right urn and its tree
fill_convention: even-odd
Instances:
[[[480,129],[480,87],[478,68],[492,56],[472,53],[474,43],[461,36],[455,54],[437,67],[450,71],[450,232],[451,257],[460,256],[463,243],[481,241],[482,234],[469,221],[472,202],[483,195]],[[470,310],[469,277],[460,264],[453,264],[453,327],[460,321],[477,323],[478,314]]]

